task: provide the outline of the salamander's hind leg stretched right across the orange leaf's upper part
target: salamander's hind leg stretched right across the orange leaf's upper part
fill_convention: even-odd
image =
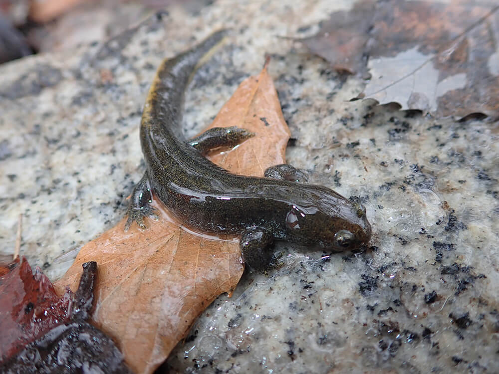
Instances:
[[[219,147],[235,147],[252,136],[254,134],[250,131],[236,126],[214,127],[189,141],[189,144],[204,154]]]

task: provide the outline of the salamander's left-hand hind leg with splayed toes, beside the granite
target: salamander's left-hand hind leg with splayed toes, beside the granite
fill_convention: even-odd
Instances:
[[[144,217],[159,219],[158,211],[151,206],[152,193],[147,173],[144,174],[139,183],[134,187],[130,197],[130,205],[126,211],[128,219],[125,223],[125,231],[128,231],[133,222],[140,229],[145,230]]]

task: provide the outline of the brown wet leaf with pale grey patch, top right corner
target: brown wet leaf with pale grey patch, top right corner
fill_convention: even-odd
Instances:
[[[303,42],[337,69],[369,72],[364,98],[437,116],[497,118],[498,40],[493,2],[366,0],[333,13]]]

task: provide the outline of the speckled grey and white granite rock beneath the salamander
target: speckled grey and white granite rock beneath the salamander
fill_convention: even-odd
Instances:
[[[210,123],[265,52],[313,183],[362,201],[361,254],[303,252],[247,273],[172,353],[180,373],[498,373],[499,127],[348,102],[362,82],[276,35],[308,36],[350,1],[221,1],[169,9],[105,44],[0,67],[0,248],[52,279],[113,226],[143,172],[138,123],[155,67],[221,26],[229,44],[194,79],[185,126]],[[308,27],[310,26],[310,27]]]

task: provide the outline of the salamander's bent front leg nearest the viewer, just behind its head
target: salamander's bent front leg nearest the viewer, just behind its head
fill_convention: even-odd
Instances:
[[[248,227],[243,232],[240,242],[245,263],[259,271],[280,266],[269,249],[272,242],[273,236],[269,230],[262,227]]]

